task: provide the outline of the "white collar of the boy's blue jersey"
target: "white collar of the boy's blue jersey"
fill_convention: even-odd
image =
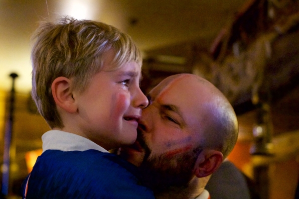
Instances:
[[[47,131],[41,136],[41,139],[43,152],[48,149],[61,151],[86,151],[94,149],[109,153],[106,149],[85,137],[60,130]]]

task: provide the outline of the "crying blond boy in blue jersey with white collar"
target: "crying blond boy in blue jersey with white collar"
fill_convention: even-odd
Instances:
[[[63,18],[35,34],[32,98],[52,130],[23,183],[26,199],[153,199],[136,168],[108,150],[133,144],[148,105],[142,57],[113,26]]]

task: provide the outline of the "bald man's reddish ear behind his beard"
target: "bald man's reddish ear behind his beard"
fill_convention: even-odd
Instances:
[[[203,178],[214,173],[223,161],[220,151],[204,149],[197,157],[193,173],[197,178]]]

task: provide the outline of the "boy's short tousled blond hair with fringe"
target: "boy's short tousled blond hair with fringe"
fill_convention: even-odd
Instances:
[[[31,95],[51,128],[63,127],[51,91],[57,77],[72,78],[73,89],[83,92],[101,71],[109,50],[115,53],[111,70],[131,61],[142,66],[141,52],[132,38],[98,21],[65,17],[58,23],[43,22],[33,39]]]

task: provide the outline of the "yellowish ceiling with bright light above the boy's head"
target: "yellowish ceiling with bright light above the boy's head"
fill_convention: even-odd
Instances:
[[[199,39],[210,45],[246,0],[0,0],[0,90],[18,74],[31,90],[30,36],[41,20],[63,15],[101,20],[129,33],[143,50]]]

